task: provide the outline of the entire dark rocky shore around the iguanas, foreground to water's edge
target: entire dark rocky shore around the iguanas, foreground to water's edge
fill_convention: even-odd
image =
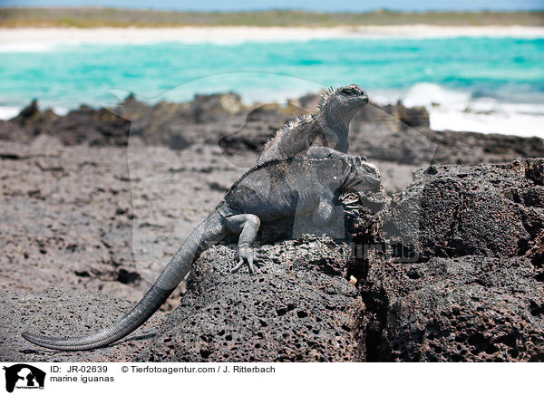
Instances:
[[[34,102],[0,121],[0,356],[542,361],[544,142],[430,130],[424,109],[402,103],[352,121],[350,152],[377,164],[392,202],[361,207],[346,240],[263,245],[273,262],[257,276],[228,275],[233,250],[215,246],[165,304],[168,318],[109,348],[50,352],[20,337],[119,317],[274,131],[316,101],[130,96],[65,116]],[[364,254],[346,254],[354,246]]]

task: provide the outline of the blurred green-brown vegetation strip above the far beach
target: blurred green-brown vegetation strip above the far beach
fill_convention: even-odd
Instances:
[[[179,27],[179,26],[308,26],[434,24],[458,26],[543,26],[544,11],[428,12],[378,10],[370,13],[257,11],[189,13],[119,8],[0,8],[0,27]]]

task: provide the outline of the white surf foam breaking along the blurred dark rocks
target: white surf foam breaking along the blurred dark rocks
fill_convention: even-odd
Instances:
[[[245,102],[287,102],[306,92],[316,92],[319,86],[304,84],[292,86],[291,90],[248,90],[242,93]],[[161,100],[184,101],[176,92],[165,94]],[[126,95],[124,95],[126,96]],[[371,100],[378,104],[403,101],[407,107],[424,106],[429,111],[431,129],[478,131],[500,133],[523,137],[537,136],[544,139],[544,102],[508,102],[491,97],[473,98],[471,92],[455,91],[438,84],[422,82],[407,90],[370,92]],[[263,98],[266,98],[264,100]],[[182,100],[181,100],[182,99]],[[47,107],[47,106],[45,106]],[[70,109],[52,106],[58,115],[65,115]],[[23,107],[0,106],[0,119],[15,117]]]

